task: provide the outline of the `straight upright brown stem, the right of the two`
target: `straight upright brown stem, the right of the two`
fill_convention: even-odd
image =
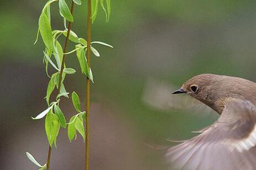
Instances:
[[[90,68],[90,43],[92,35],[92,2],[91,0],[87,0],[87,25],[86,25],[86,40],[87,40],[87,51],[86,58],[87,63]],[[89,132],[90,132],[90,79],[86,78],[86,128],[85,128],[85,170],[89,170]]]

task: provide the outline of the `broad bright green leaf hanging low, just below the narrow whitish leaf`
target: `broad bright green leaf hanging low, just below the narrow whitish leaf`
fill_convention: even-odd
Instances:
[[[56,140],[57,135],[59,134],[59,130],[59,117],[57,117],[56,114],[53,114],[51,110],[51,112],[49,112],[46,116],[46,134],[50,146],[52,146],[52,143],[54,142],[56,147]]]

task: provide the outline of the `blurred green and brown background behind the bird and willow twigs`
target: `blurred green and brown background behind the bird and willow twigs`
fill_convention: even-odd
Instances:
[[[46,109],[42,39],[33,45],[45,2],[0,1],[0,169],[36,169],[26,151],[46,162],[44,121],[31,119]],[[75,6],[73,14],[72,29],[80,37],[85,7],[85,2]],[[92,39],[114,49],[95,45],[101,57],[92,58],[91,169],[170,169],[164,154],[173,143],[166,139],[188,139],[217,118],[171,92],[201,73],[256,82],[255,8],[252,0],[112,1],[109,23],[100,10]],[[56,3],[52,27],[63,29]],[[67,66],[77,70],[65,79],[67,91],[78,92],[85,108],[85,77],[75,54],[67,57]],[[68,120],[76,113],[70,100],[63,98],[61,107]],[[80,136],[69,144],[60,130],[51,168],[84,169]]]

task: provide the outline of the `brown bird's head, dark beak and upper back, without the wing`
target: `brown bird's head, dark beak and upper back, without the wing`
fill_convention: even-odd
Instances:
[[[254,103],[256,100],[255,89],[255,83],[242,78],[200,74],[187,80],[179,90],[172,94],[188,94],[221,114],[225,100],[230,97]]]

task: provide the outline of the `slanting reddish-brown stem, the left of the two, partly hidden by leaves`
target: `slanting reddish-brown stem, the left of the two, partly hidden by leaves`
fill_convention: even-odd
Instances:
[[[74,8],[74,2],[72,1],[71,3],[71,14],[73,14],[73,8]],[[68,46],[68,39],[69,39],[69,33],[71,31],[71,22],[68,22],[68,32],[67,32],[67,37],[65,39],[65,44],[64,44],[64,49],[63,49],[63,59],[61,61],[61,67],[60,67],[60,77],[59,77],[59,84],[58,84],[58,88],[57,88],[57,95],[59,95],[60,93],[60,86],[61,86],[61,81],[62,81],[62,75],[63,75],[63,69],[64,69],[64,65],[65,65],[65,53],[67,51],[67,46]],[[52,147],[49,146],[48,149],[48,156],[47,156],[47,163],[46,163],[46,169],[49,170],[49,163],[51,160],[51,151],[52,151]]]

